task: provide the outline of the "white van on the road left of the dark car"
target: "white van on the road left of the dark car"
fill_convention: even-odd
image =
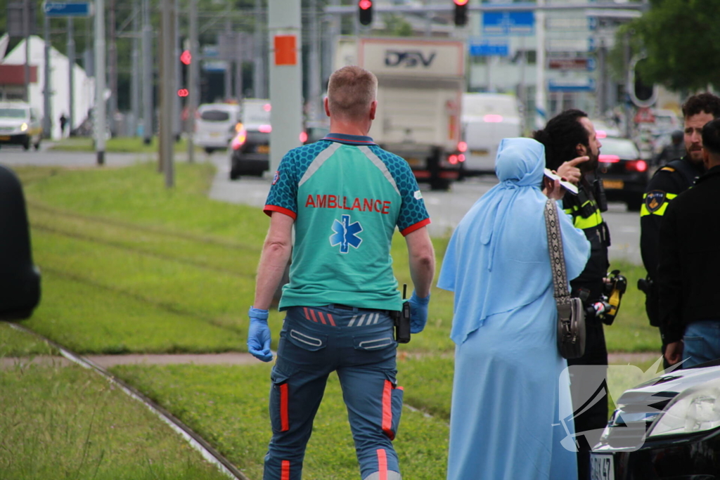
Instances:
[[[237,104],[200,105],[195,119],[195,145],[207,153],[228,148],[239,121],[240,106]]]

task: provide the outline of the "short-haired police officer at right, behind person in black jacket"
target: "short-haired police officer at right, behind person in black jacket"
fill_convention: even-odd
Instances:
[[[704,93],[693,95],[683,104],[684,140],[686,155],[662,166],[647,184],[640,209],[640,252],[642,263],[647,270],[647,279],[641,279],[639,286],[645,292],[645,310],[650,325],[660,327],[660,299],[658,296],[657,265],[660,245],[660,223],[667,205],[676,196],[689,189],[701,176],[703,167],[703,126],[720,117],[720,97]],[[662,329],[660,335],[662,337]],[[665,353],[665,347],[662,348]],[[663,358],[665,358],[663,356]],[[665,368],[669,363],[664,360]]]

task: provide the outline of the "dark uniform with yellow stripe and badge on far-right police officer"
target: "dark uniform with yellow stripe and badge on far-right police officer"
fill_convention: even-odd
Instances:
[[[703,166],[693,163],[688,155],[672,160],[655,172],[647,184],[640,209],[640,252],[649,279],[657,279],[658,246],[660,245],[660,222],[667,205],[676,196],[689,189],[696,178],[703,174]],[[653,281],[645,299],[645,310],[650,325],[660,327],[657,282]],[[662,335],[662,329],[660,334]]]

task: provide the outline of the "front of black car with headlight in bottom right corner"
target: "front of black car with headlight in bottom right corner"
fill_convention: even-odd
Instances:
[[[720,361],[664,373],[616,404],[592,480],[720,479]]]

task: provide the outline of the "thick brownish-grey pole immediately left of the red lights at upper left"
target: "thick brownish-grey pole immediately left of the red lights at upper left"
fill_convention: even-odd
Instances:
[[[173,165],[173,103],[176,94],[176,78],[174,68],[175,40],[175,4],[174,0],[162,0],[161,11],[161,49],[160,49],[160,157],[165,186],[174,186]]]

